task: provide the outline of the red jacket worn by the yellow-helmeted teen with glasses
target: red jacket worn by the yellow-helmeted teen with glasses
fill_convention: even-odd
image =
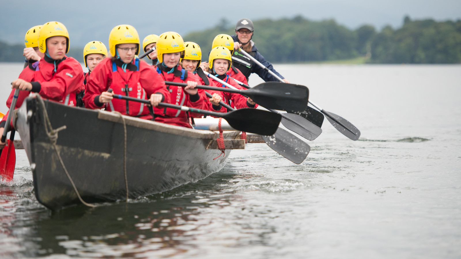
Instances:
[[[99,102],[99,95],[109,88],[114,94],[144,100],[148,100],[152,94],[162,94],[163,101],[169,101],[170,96],[165,82],[152,66],[139,59],[133,59],[125,70],[122,68],[123,64],[119,59],[112,61],[107,58],[95,67],[95,70],[90,73],[83,96],[85,107],[102,108],[104,104]],[[106,104],[106,110],[144,119],[153,118],[146,104],[134,101],[112,99]]]

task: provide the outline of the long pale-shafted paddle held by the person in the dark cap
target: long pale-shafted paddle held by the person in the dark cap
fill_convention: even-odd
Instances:
[[[259,65],[262,69],[270,73],[273,77],[277,78],[280,82],[284,82],[282,78],[277,76],[274,72],[269,70],[265,65],[261,64],[258,60],[253,58],[250,54],[246,53],[245,51],[242,50],[242,48],[239,48],[240,53],[243,55],[247,56],[249,59],[251,59],[254,63]],[[331,112],[327,112],[320,108],[319,106],[315,105],[312,101],[308,101],[312,106],[317,108],[320,112],[322,112],[328,119],[328,121],[335,127],[339,132],[341,132],[343,135],[346,137],[350,138],[351,140],[358,140],[360,137],[360,130],[358,130],[353,124],[351,124],[348,120],[345,118],[336,115]]]

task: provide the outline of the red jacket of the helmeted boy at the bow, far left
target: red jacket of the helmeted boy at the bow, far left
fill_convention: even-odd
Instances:
[[[62,60],[54,60],[45,56],[40,60],[34,73],[32,92],[41,97],[76,106],[76,94],[85,89],[83,70],[78,61],[65,56]]]

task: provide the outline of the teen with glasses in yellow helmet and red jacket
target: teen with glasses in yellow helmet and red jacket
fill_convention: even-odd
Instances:
[[[145,104],[113,99],[113,94],[122,94],[149,99],[152,106],[170,99],[165,82],[155,69],[136,56],[139,54],[136,29],[127,24],[115,26],[109,34],[109,51],[112,58],[102,60],[88,78],[83,97],[85,107],[100,109],[105,106],[109,111],[153,119],[154,114]]]

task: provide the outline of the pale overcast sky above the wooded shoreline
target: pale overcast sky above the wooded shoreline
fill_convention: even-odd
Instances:
[[[23,43],[26,31],[49,21],[62,22],[69,30],[71,47],[88,41],[106,44],[110,30],[118,24],[133,25],[141,39],[148,34],[176,31],[185,35],[226,18],[232,26],[240,18],[335,19],[356,29],[371,24],[402,26],[403,17],[461,19],[461,0],[248,0],[238,1],[126,1],[126,0],[0,0],[0,40]],[[221,3],[227,3],[223,5]],[[258,28],[255,28],[256,30]],[[75,45],[72,45],[75,44]]]

